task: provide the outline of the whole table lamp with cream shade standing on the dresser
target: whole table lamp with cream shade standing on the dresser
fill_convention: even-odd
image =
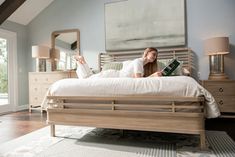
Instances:
[[[50,48],[47,46],[32,46],[32,58],[36,58],[36,72],[46,71],[46,59],[50,58]]]

